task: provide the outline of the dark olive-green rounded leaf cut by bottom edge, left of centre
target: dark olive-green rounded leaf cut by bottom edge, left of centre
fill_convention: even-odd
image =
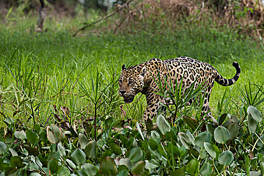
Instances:
[[[117,175],[117,166],[115,161],[109,156],[100,163],[100,173],[102,175]]]

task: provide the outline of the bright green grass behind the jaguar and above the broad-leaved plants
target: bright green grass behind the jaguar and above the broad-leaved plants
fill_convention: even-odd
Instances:
[[[122,99],[117,94],[116,80],[121,65],[139,64],[153,57],[190,56],[212,64],[225,78],[233,77],[232,61],[237,61],[242,70],[237,83],[227,88],[215,83],[210,101],[214,116],[218,114],[218,102],[225,91],[226,95],[231,92],[230,102],[241,106],[239,96],[244,85],[248,81],[255,84],[264,81],[263,46],[227,27],[215,29],[209,24],[183,23],[178,29],[158,28],[156,34],[151,30],[132,30],[130,34],[124,31],[117,35],[96,28],[100,37],[73,38],[73,31],[81,25],[78,18],[59,22],[47,18],[48,30],[43,33],[32,32],[36,21],[35,17],[26,17],[23,21],[0,24],[0,112],[26,124],[33,123],[28,121],[32,108],[37,122],[44,124],[50,116],[51,122],[54,121],[52,105],[68,107],[73,120],[91,117],[95,106],[87,94],[93,92],[92,78],[96,79],[97,70],[100,89],[106,89],[102,94],[107,99],[98,109],[99,116],[111,112],[120,118]],[[99,26],[104,25],[109,23]],[[88,33],[91,32],[90,29]],[[127,118],[142,116],[146,105],[144,97],[135,102],[124,105]],[[231,111],[238,115],[233,103],[228,107],[232,105]]]

